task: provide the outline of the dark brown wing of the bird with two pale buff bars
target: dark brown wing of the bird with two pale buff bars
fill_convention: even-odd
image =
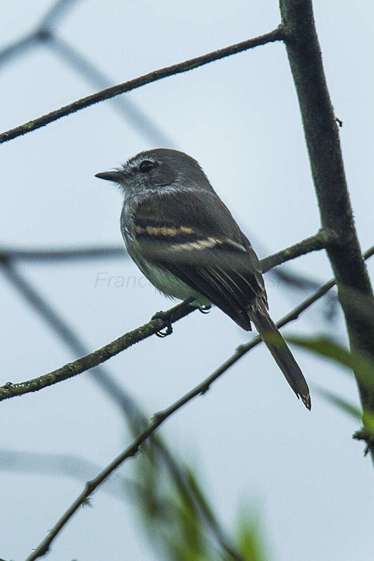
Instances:
[[[142,256],[204,295],[246,330],[248,309],[266,292],[250,242],[215,193],[150,197],[133,214]]]

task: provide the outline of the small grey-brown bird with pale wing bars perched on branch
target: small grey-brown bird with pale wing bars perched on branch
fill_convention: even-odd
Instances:
[[[141,272],[165,295],[218,306],[243,329],[251,321],[290,387],[310,409],[308,385],[267,312],[261,266],[248,238],[183,152],[158,148],[96,177],[117,183],[121,231]]]

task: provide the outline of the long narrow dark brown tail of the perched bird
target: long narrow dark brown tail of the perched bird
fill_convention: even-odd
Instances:
[[[262,341],[266,344],[274,357],[276,364],[283,372],[285,379],[294,390],[297,397],[301,397],[302,402],[310,410],[311,398],[308,384],[295,361],[287,343],[279,333],[274,321],[270,318],[265,305],[253,306],[251,310],[251,320],[260,334]]]

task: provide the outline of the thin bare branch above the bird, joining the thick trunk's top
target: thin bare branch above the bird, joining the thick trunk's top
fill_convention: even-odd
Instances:
[[[26,132],[35,131],[38,128],[48,125],[48,123],[57,121],[57,119],[61,117],[70,115],[72,113],[75,113],[76,111],[80,111],[80,109],[89,107],[94,103],[102,102],[105,99],[110,99],[127,91],[135,90],[136,88],[140,88],[145,84],[150,84],[151,82],[161,80],[162,78],[166,78],[168,76],[187,72],[189,70],[192,70],[193,68],[206,65],[209,62],[218,61],[219,59],[231,56],[232,54],[241,53],[244,50],[258,47],[258,45],[265,45],[266,43],[272,43],[274,41],[280,41],[282,39],[283,31],[280,27],[277,27],[276,29],[270,31],[270,33],[266,33],[265,35],[260,35],[253,39],[247,39],[246,41],[243,41],[241,43],[236,43],[234,45],[230,45],[229,47],[215,50],[211,53],[203,54],[200,57],[191,58],[188,61],[179,62],[176,65],[167,66],[165,68],[160,68],[159,70],[149,72],[144,76],[140,76],[127,82],[123,82],[123,84],[112,86],[112,88],[101,90],[98,93],[79,99],[76,102],[64,105],[64,107],[47,113],[46,115],[34,119],[33,121],[29,121],[24,125],[3,132],[0,135],[0,144],[2,144],[3,142],[7,142],[8,140],[15,139],[18,136],[22,136],[26,134]]]

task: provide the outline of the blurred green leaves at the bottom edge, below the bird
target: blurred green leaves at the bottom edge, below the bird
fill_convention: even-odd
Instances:
[[[156,436],[135,461],[128,483],[147,539],[156,558],[165,561],[269,561],[258,513],[238,516],[234,537],[218,522],[197,470],[174,457]],[[165,464],[169,469],[165,469]]]

